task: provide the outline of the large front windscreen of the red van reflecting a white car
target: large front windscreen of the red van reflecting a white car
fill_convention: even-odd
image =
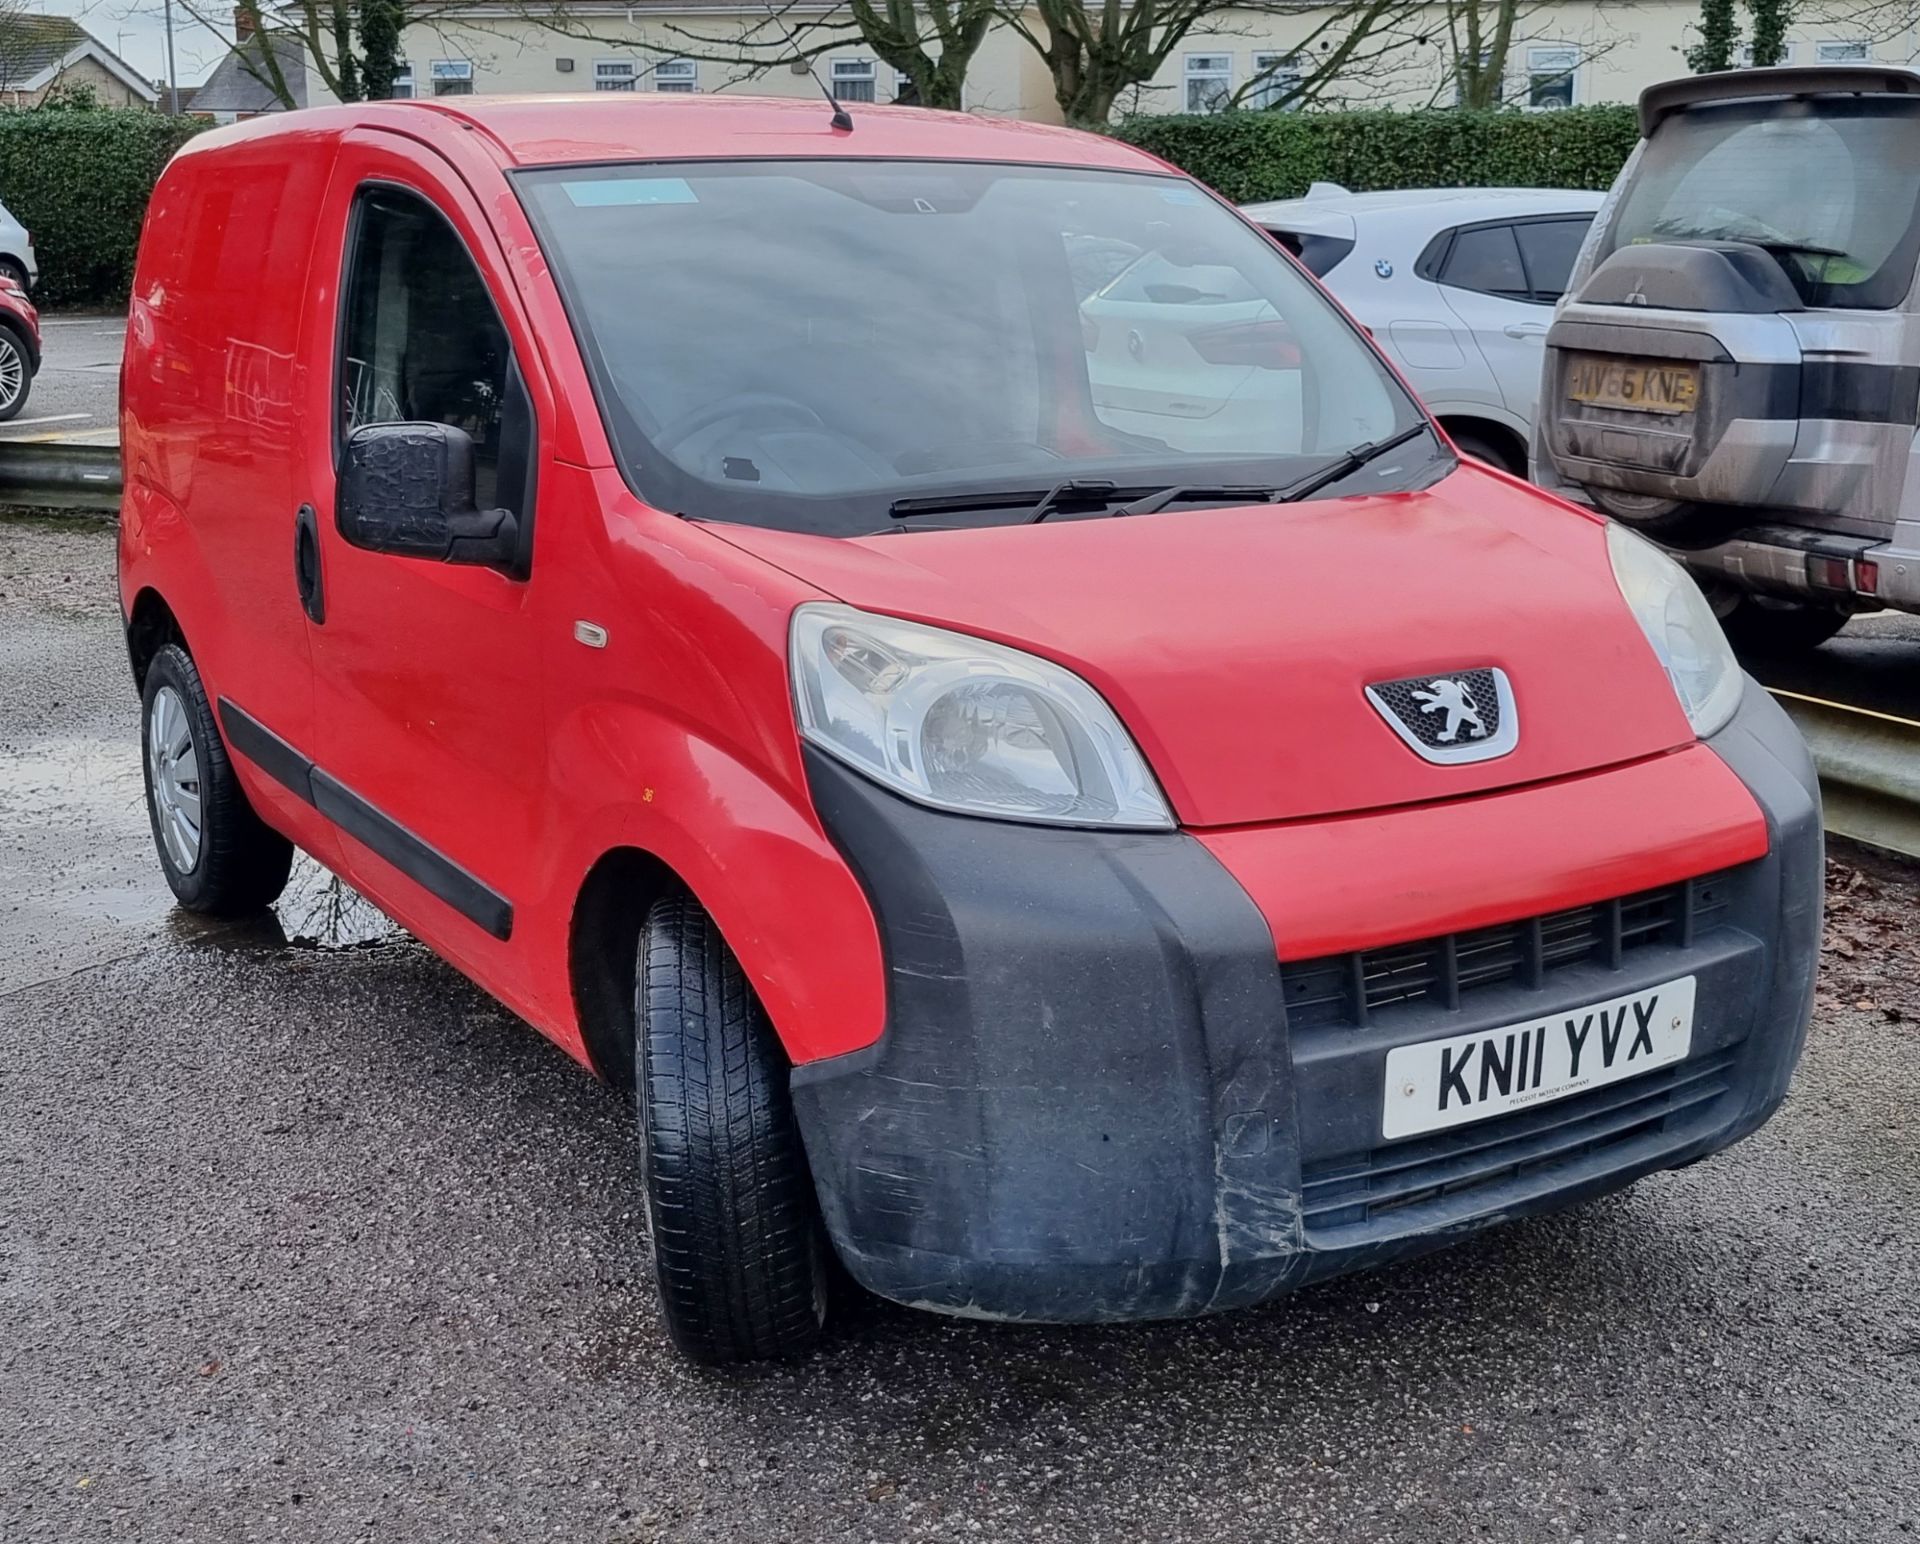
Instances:
[[[841,159],[518,186],[659,509],[852,536],[937,499],[939,524],[991,524],[1066,482],[1283,488],[1423,424],[1325,296],[1183,179]],[[1421,436],[1323,492],[1438,461]]]

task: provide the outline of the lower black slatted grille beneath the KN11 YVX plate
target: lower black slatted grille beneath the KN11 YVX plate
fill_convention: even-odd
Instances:
[[[1626,1083],[1419,1141],[1396,1143],[1302,1170],[1309,1235],[1379,1231],[1388,1214],[1407,1231],[1444,1221],[1469,1191],[1555,1168],[1605,1168],[1609,1150],[1707,1123],[1707,1106],[1728,1091],[1736,1050],[1718,1050]],[[1352,1233],[1348,1233],[1352,1237]]]

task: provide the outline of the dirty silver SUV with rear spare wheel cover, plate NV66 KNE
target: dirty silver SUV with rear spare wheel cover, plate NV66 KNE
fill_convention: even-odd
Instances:
[[[1920,75],[1649,88],[1548,334],[1534,476],[1676,549],[1736,643],[1920,611]]]

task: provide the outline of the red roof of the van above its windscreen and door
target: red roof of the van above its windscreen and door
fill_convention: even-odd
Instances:
[[[1165,171],[1142,150],[1104,134],[1044,123],[987,119],[925,108],[852,104],[852,131],[831,127],[824,98],[593,92],[588,96],[442,96],[359,102],[275,113],[196,136],[209,148],[240,138],[401,129],[432,142],[428,125],[465,125],[493,142],[507,165],[582,161],[860,156],[939,161],[1027,161]]]

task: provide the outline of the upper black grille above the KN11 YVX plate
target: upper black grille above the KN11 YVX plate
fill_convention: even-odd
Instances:
[[[1726,908],[1726,876],[1709,874],[1592,906],[1392,943],[1352,954],[1281,964],[1286,1024],[1365,1027],[1373,1014],[1404,1002],[1457,1008],[1478,987],[1517,981],[1540,987],[1565,966],[1601,962],[1653,943],[1688,947]]]

